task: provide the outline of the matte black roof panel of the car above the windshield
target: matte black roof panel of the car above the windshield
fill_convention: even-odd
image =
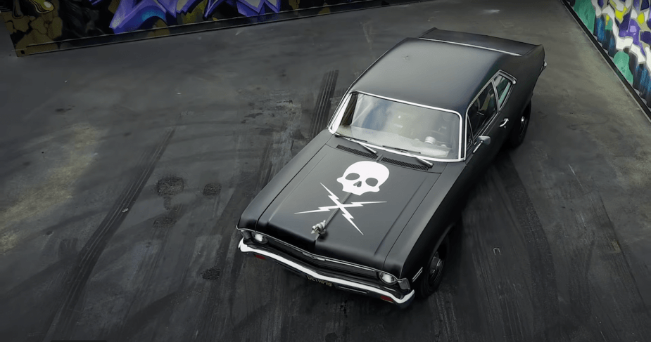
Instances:
[[[351,91],[459,112],[462,117],[507,53],[421,38],[387,51]]]

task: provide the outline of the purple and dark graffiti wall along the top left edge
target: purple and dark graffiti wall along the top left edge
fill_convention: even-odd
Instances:
[[[312,15],[323,14],[348,4],[350,10],[366,2],[373,0],[0,0],[0,15],[20,56],[80,46],[70,43],[80,39],[145,30],[146,34],[123,40],[141,39],[168,35],[170,28],[188,24],[230,20],[246,25],[289,18],[287,14],[306,9]],[[277,15],[282,13],[286,15]],[[233,21],[238,18],[248,21]],[[95,39],[85,45],[115,40]]]

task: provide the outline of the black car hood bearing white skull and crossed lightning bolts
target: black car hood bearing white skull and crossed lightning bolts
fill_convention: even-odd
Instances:
[[[324,145],[255,229],[313,254],[381,268],[438,176]],[[317,239],[312,226],[323,221],[326,234]]]

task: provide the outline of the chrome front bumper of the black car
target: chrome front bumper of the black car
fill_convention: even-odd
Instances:
[[[284,265],[286,268],[290,268],[295,272],[299,272],[305,275],[306,277],[312,277],[313,279],[320,280],[321,282],[330,282],[337,289],[343,289],[345,291],[354,291],[360,294],[366,294],[367,296],[373,296],[376,298],[382,298],[382,296],[386,296],[388,298],[391,298],[391,301],[393,301],[393,303],[398,305],[400,308],[407,307],[414,298],[414,294],[415,294],[414,290],[410,291],[405,296],[399,297],[392,294],[389,291],[384,291],[382,289],[378,289],[376,287],[372,287],[367,284],[361,284],[360,282],[354,282],[348,279],[343,279],[341,277],[336,277],[332,275],[323,275],[321,272],[317,270],[313,270],[312,268],[309,268],[306,265],[302,265],[301,263],[292,261],[289,258],[280,256],[279,254],[274,253],[273,251],[270,251],[268,249],[265,249],[264,247],[260,247],[257,245],[251,246],[245,244],[244,239],[240,240],[238,248],[240,251],[246,254],[258,254],[260,256],[265,256],[265,258],[270,258],[273,261],[276,261],[277,263]]]

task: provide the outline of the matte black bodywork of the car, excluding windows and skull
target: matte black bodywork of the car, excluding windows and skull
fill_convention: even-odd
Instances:
[[[333,117],[329,128],[242,213],[239,248],[308,279],[407,305],[413,282],[424,277],[424,260],[453,227],[467,192],[516,129],[509,123],[517,124],[526,108],[530,110],[544,57],[540,45],[439,29],[401,41],[360,75],[342,104],[348,94],[362,92],[456,112],[462,122],[459,158],[429,159],[429,167],[381,146],[371,146],[377,150],[373,154],[337,136]],[[498,74],[512,82],[510,93],[467,143],[469,105],[485,86],[493,86]],[[482,144],[476,136],[490,136],[491,142]],[[388,178],[374,192],[342,192],[348,168],[365,161],[384,166],[377,167]],[[337,203],[346,204],[346,211],[335,208]],[[326,221],[324,235],[312,234],[313,226]],[[255,234],[265,243],[255,241]],[[379,279],[380,272],[399,280],[387,284]]]

